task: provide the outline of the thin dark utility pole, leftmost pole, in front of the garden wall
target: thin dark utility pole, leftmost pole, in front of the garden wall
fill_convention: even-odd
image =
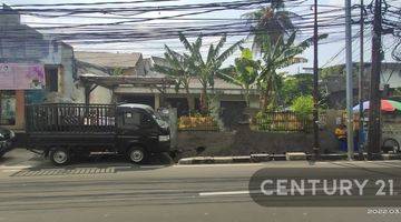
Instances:
[[[313,27],[313,151],[315,160],[320,154],[319,142],[319,61],[317,61],[317,0],[314,0],[314,27]]]

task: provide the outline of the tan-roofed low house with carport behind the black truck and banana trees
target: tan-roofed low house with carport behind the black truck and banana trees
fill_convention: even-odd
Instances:
[[[157,73],[151,69],[156,63],[165,64],[163,58],[151,57],[144,59],[139,53],[106,52],[76,52],[76,58],[78,61],[78,73],[84,74],[81,75],[81,82],[86,80],[91,84],[100,85],[90,93],[90,102],[99,101],[100,95],[96,90],[98,88],[105,90],[104,85],[106,85],[113,94],[110,101],[143,103],[155,109],[173,107],[177,108],[178,115],[188,114],[188,104],[184,89],[176,91],[174,82],[169,80],[169,77]],[[117,75],[120,79],[115,78],[114,71],[116,70],[118,70],[119,74]],[[226,125],[231,125],[233,121],[242,115],[246,108],[243,95],[244,91],[241,87],[217,78],[215,79],[213,90],[216,94],[215,100],[213,100],[213,107],[221,109],[223,122]],[[190,80],[189,91],[195,107],[199,109],[202,84],[197,79]],[[256,90],[252,90],[251,107],[258,108],[258,94]]]

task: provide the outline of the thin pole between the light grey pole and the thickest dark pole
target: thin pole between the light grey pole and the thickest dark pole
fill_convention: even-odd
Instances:
[[[360,71],[358,77],[358,99],[359,99],[359,134],[358,134],[358,151],[359,151],[359,159],[363,160],[363,98],[362,98],[362,91],[363,91],[363,75],[364,75],[364,53],[363,53],[363,29],[364,29],[364,6],[363,0],[361,0],[361,19],[360,19]]]

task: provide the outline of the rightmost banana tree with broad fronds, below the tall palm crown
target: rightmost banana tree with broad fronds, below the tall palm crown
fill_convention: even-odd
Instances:
[[[299,44],[295,44],[296,32],[293,32],[287,40],[282,37],[273,43],[270,36],[264,36],[264,41],[261,46],[263,69],[257,79],[257,84],[261,90],[261,107],[263,111],[272,103],[277,101],[280,87],[282,84],[282,75],[277,73],[278,69],[288,67],[294,63],[305,62],[306,60],[297,57],[305,51],[313,42],[313,38],[309,38]],[[327,34],[322,34],[319,39],[326,38]]]

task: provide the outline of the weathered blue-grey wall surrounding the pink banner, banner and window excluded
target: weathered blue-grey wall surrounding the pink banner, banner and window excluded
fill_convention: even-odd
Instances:
[[[46,89],[8,90],[14,98],[14,124],[6,125],[17,131],[25,129],[25,105],[29,102],[58,102],[70,100],[72,92],[72,48],[55,41],[51,36],[43,36],[33,28],[20,23],[20,14],[4,7],[0,9],[0,62],[33,63],[56,65],[58,70],[58,92]],[[18,37],[18,39],[16,38]],[[6,93],[0,89],[0,94]]]

